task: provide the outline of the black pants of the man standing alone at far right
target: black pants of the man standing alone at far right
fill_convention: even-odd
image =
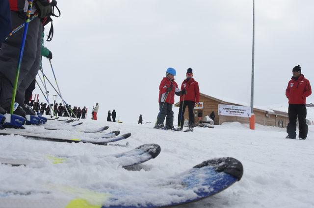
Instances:
[[[305,139],[308,136],[309,127],[306,124],[305,104],[289,104],[288,108],[289,123],[287,133],[291,137],[296,137],[296,119],[299,120],[299,138]]]

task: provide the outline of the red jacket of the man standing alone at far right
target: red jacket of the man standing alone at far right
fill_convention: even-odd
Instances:
[[[301,74],[297,80],[291,77],[286,89],[286,96],[289,99],[289,104],[305,104],[306,97],[312,94],[312,89],[309,80]]]

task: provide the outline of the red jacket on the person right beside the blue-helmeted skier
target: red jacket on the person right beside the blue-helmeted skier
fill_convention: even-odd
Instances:
[[[180,96],[181,101],[194,101],[200,102],[200,88],[198,87],[198,82],[195,81],[193,78],[189,80],[184,79],[181,90],[185,89],[186,94]]]

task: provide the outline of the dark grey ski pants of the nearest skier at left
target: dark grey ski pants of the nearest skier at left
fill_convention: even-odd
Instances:
[[[12,27],[25,22],[25,13],[11,11]],[[23,59],[18,80],[15,101],[22,105],[25,91],[36,77],[41,62],[41,39],[43,24],[35,18],[28,25]],[[11,104],[13,85],[18,66],[23,29],[4,41],[0,48],[0,105],[7,108]]]

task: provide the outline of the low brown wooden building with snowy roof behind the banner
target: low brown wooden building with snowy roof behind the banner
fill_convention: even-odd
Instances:
[[[215,113],[215,125],[220,125],[224,122],[240,122],[249,123],[248,117],[237,117],[237,116],[218,116],[218,105],[237,105],[237,106],[248,106],[246,103],[239,101],[230,100],[226,98],[212,97],[203,93],[200,93],[200,102],[203,102],[203,108],[194,109],[195,126],[200,123],[203,117],[209,116],[213,111]],[[175,106],[179,107],[180,103],[176,103]],[[285,128],[288,125],[288,113],[282,111],[275,111],[266,108],[254,107],[255,123],[264,126],[279,126]],[[187,107],[184,112],[184,119],[188,119]]]

